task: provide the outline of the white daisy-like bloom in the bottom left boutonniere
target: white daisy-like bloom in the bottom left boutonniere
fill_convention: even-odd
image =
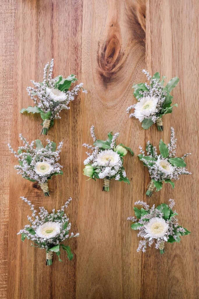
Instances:
[[[40,238],[51,239],[60,234],[61,224],[58,222],[46,222],[36,229],[36,235]]]

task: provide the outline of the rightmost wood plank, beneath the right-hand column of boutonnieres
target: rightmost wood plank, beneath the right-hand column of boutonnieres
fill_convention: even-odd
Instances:
[[[146,68],[159,71],[168,80],[180,83],[173,90],[178,108],[165,117],[163,133],[150,129],[157,143],[160,136],[169,141],[172,125],[178,138],[177,155],[192,152],[187,158],[192,176],[182,176],[175,189],[164,186],[149,203],[160,204],[173,198],[181,225],[192,232],[181,243],[167,244],[166,254],[149,250],[142,260],[141,298],[199,298],[198,290],[198,1],[146,1]],[[169,246],[170,245],[170,246]]]

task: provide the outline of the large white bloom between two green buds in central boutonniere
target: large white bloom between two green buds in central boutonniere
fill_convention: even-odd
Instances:
[[[95,161],[99,166],[106,166],[107,162],[109,162],[110,167],[114,167],[116,165],[122,165],[122,161],[117,152],[114,152],[112,149],[105,149],[101,151],[97,156]]]

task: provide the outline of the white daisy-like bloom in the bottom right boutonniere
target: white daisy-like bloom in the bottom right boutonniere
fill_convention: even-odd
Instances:
[[[147,225],[144,225],[146,235],[144,238],[149,238],[149,241],[151,239],[164,239],[167,241],[167,231],[169,229],[169,225],[166,223],[166,221],[163,218],[154,217],[149,220],[149,223]]]

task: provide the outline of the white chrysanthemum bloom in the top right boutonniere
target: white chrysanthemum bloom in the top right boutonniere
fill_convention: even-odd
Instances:
[[[145,116],[154,115],[158,110],[156,109],[158,103],[157,97],[142,97],[140,101],[135,105],[135,118],[138,118],[142,122]]]

